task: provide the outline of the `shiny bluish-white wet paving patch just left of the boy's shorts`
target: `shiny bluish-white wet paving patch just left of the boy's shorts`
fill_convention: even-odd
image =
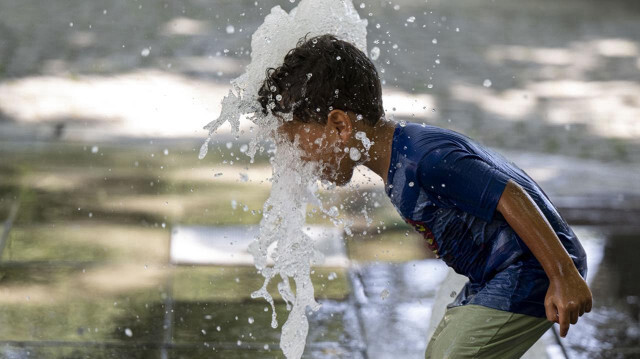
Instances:
[[[422,358],[435,294],[447,267],[429,259],[352,272],[369,358]]]

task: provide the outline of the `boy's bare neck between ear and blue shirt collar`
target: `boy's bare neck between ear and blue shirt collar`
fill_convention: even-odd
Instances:
[[[364,166],[380,176],[385,187],[391,162],[391,144],[395,129],[396,122],[381,119],[375,126],[368,128],[369,131],[365,131],[367,137],[373,141],[373,144],[369,148],[369,160],[364,163]]]

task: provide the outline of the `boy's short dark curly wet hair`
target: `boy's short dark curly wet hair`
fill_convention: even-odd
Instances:
[[[384,116],[375,66],[333,35],[300,39],[282,66],[267,69],[258,101],[265,115],[293,112],[296,121],[323,125],[334,109],[352,111],[369,126]]]

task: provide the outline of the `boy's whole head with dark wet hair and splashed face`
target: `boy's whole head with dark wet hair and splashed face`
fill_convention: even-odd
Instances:
[[[282,66],[267,70],[260,88],[263,112],[283,121],[280,132],[298,139],[303,159],[323,166],[321,178],[338,185],[349,182],[362,160],[345,148],[362,150],[356,132],[369,136],[384,117],[382,89],[373,63],[352,44],[332,35],[301,39]],[[347,151],[348,151],[347,149]],[[353,150],[352,150],[353,151]]]

